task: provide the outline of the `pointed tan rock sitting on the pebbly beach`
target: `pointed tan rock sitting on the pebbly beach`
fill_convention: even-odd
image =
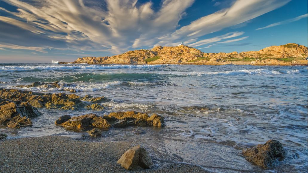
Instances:
[[[138,167],[147,169],[153,166],[152,159],[148,152],[140,145],[125,151],[117,163],[121,164],[121,166],[127,170],[135,170],[138,169]]]

